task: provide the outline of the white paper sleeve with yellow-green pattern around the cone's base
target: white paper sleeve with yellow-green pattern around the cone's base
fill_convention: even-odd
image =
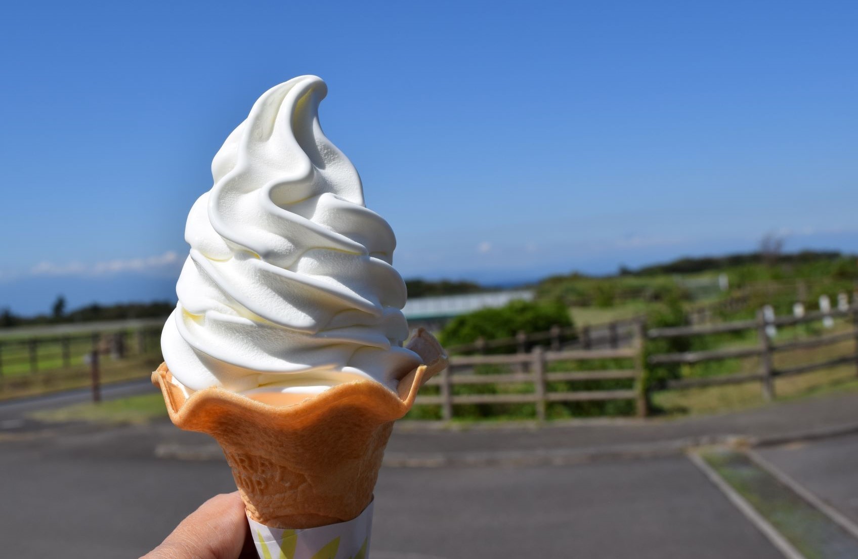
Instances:
[[[372,531],[372,502],[347,522],[287,530],[247,519],[259,559],[366,559]]]

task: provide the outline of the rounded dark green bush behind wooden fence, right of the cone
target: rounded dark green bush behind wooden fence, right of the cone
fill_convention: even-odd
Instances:
[[[547,302],[512,301],[498,309],[483,309],[457,316],[441,331],[444,346],[473,344],[478,338],[510,338],[519,331],[546,332],[554,325],[572,325],[569,310],[559,300]]]

